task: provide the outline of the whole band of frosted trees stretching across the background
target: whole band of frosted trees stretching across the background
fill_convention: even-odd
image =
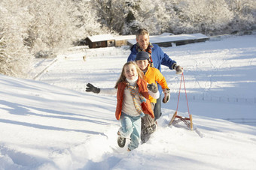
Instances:
[[[251,31],[254,0],[2,0],[0,73],[26,76],[33,58],[50,55],[93,34]]]

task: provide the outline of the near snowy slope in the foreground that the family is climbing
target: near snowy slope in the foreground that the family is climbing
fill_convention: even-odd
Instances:
[[[117,146],[114,97],[0,76],[1,169],[253,169],[256,127],[194,116],[194,132],[168,127],[164,110],[151,140]],[[170,113],[166,113],[170,112]],[[181,125],[182,126],[182,125]]]

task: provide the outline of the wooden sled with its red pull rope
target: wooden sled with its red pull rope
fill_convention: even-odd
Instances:
[[[181,82],[182,82],[182,79],[183,79],[183,82],[184,82],[184,74],[183,73],[181,74]],[[184,82],[184,90],[185,90],[186,99],[187,99],[187,92],[186,92],[185,82]],[[178,101],[179,101],[180,94],[181,94],[181,84],[180,84],[179,91],[178,91]],[[177,115],[177,113],[178,113],[178,103],[177,103],[177,109],[176,109],[175,113],[173,114],[171,121],[169,122],[169,126],[174,125],[174,124],[178,124],[179,122],[182,121],[182,122],[184,122],[184,124],[187,125],[187,127],[190,130],[193,130],[192,115],[190,115],[190,113],[189,113],[188,103],[187,103],[187,112],[188,112],[188,117],[189,118]],[[176,118],[177,118],[177,120],[175,120]]]

